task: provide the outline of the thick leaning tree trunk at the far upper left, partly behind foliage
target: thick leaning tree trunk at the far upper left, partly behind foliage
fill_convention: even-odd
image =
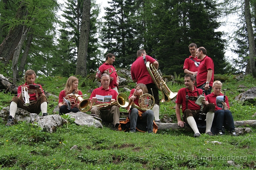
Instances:
[[[22,20],[24,16],[26,16],[26,5],[25,2],[21,2],[15,18]],[[0,56],[6,58],[6,61],[3,62],[5,65],[8,63],[9,60],[12,60],[14,50],[20,42],[22,30],[22,25],[10,28],[8,35],[6,36],[6,38],[4,38],[3,42],[0,45]]]

